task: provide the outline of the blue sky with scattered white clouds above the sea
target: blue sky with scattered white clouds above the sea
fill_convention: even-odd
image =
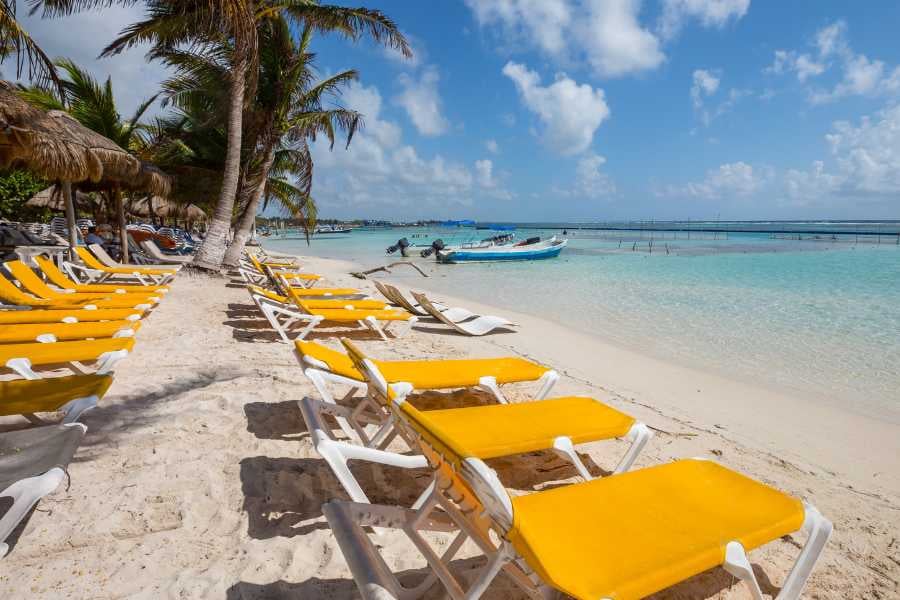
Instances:
[[[900,218],[900,3],[365,6],[414,57],[313,42],[322,76],[360,72],[334,102],[364,115],[348,149],[313,145],[320,217]],[[142,12],[24,21],[51,56],[112,76],[128,114],[165,70],[143,49],[96,56]]]

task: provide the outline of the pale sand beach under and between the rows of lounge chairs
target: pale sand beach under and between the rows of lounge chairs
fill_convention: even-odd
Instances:
[[[329,284],[377,295],[347,275],[346,263],[304,262]],[[416,287],[427,290],[428,280]],[[83,417],[88,434],[69,469],[71,486],[45,498],[11,540],[0,598],[357,597],[320,509],[346,495],[305,433],[296,401],[315,392],[292,347],[276,341],[237,279],[184,273],[172,288],[109,394]],[[900,596],[897,426],[664,363],[503,307],[440,299],[519,326],[478,339],[427,324],[392,342],[354,339],[385,358],[518,354],[548,364],[563,374],[554,395],[599,397],[656,430],[635,468],[713,458],[815,504],[835,530],[805,597]],[[325,338],[337,332],[311,339],[334,345]],[[609,468],[622,446],[584,450]],[[523,490],[573,477],[550,454],[497,466]],[[376,502],[409,503],[428,480],[370,465],[357,471]],[[750,555],[765,593],[777,593],[798,541],[786,537]],[[397,572],[424,565],[402,535],[389,534],[383,551]],[[525,596],[501,576],[485,597]],[[749,594],[716,569],[655,597]]]

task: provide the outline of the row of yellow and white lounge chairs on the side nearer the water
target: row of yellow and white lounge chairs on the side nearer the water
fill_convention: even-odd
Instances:
[[[322,510],[363,598],[419,598],[440,585],[455,600],[474,600],[501,571],[536,599],[641,598],[723,567],[762,600],[747,553],[803,531],[805,543],[777,597],[800,596],[832,530],[812,505],[705,459],[632,471],[651,429],[594,398],[550,397],[558,374],[528,360],[385,361],[346,338],[343,350],[306,341],[309,325],[288,336],[291,319],[310,323],[309,315],[324,318],[328,311],[364,322],[402,309],[408,321],[430,317],[464,333],[487,328],[472,326],[486,317],[421,294],[410,300],[381,282],[376,287],[394,309],[371,303],[360,290],[326,288],[318,288],[317,297],[327,298],[320,302],[343,308],[314,308],[308,292],[320,278],[297,278],[297,265],[248,255],[242,268],[254,302],[281,338],[293,341],[318,394],[300,400],[300,411],[314,447],[351,499]],[[532,399],[509,402],[501,386],[512,384],[535,386]],[[475,388],[494,402],[457,399],[458,406],[431,410],[417,402],[419,392]],[[624,455],[608,474],[592,474],[576,446],[614,439],[627,442]],[[513,495],[486,462],[540,450],[569,461],[581,481]],[[412,505],[376,505],[350,460],[428,468],[432,477]],[[429,565],[424,578],[410,585],[391,572],[378,544],[387,530],[403,532],[421,553]],[[449,536],[440,554],[434,535]],[[474,576],[461,577],[451,563],[466,541],[486,561]]]

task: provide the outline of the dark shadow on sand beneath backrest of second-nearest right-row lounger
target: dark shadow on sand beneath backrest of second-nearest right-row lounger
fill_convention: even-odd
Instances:
[[[373,502],[389,505],[411,505],[431,481],[426,469],[355,462],[350,468],[365,489],[372,490]],[[241,488],[248,535],[259,540],[328,529],[322,504],[349,498],[328,464],[318,458],[245,458],[241,461]]]

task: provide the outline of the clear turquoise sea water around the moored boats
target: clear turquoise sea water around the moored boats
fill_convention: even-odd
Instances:
[[[311,246],[297,239],[264,243],[369,267],[399,260],[387,257],[385,247],[403,236],[417,241],[411,234],[421,231],[358,230],[315,238]],[[896,242],[656,233],[650,253],[648,235],[575,232],[561,257],[549,261],[419,264],[434,274],[429,288],[900,423]],[[396,269],[394,277],[422,283],[411,269]]]

